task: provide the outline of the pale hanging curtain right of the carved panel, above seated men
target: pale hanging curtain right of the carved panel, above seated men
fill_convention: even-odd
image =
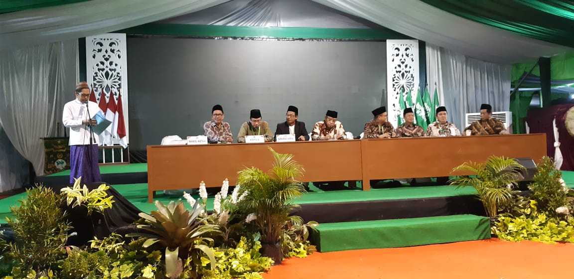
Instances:
[[[447,107],[449,121],[460,129],[464,129],[464,115],[478,113],[482,103],[491,104],[492,111],[510,110],[511,71],[511,65],[471,59],[426,44],[429,91],[437,89],[440,104]]]

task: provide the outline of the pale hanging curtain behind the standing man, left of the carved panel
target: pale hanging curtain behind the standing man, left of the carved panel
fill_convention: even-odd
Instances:
[[[0,52],[0,122],[14,148],[44,174],[41,137],[56,134],[74,98],[77,40]]]

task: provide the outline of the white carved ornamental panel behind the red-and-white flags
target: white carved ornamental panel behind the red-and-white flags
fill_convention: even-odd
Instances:
[[[86,82],[94,89],[98,104],[102,97],[107,104],[110,92],[113,92],[115,103],[118,104],[121,94],[126,142],[129,143],[126,34],[86,37],[86,75]],[[100,139],[106,145],[119,143],[118,138],[109,135]]]

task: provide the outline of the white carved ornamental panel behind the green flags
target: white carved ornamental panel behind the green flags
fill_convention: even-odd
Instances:
[[[416,102],[418,77],[418,41],[387,40],[387,113],[394,127],[398,117],[402,117],[400,93],[406,100],[410,91],[413,103]]]

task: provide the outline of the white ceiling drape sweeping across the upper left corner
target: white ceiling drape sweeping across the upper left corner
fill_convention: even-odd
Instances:
[[[92,0],[0,14],[0,49],[94,36],[224,2],[227,0]]]

